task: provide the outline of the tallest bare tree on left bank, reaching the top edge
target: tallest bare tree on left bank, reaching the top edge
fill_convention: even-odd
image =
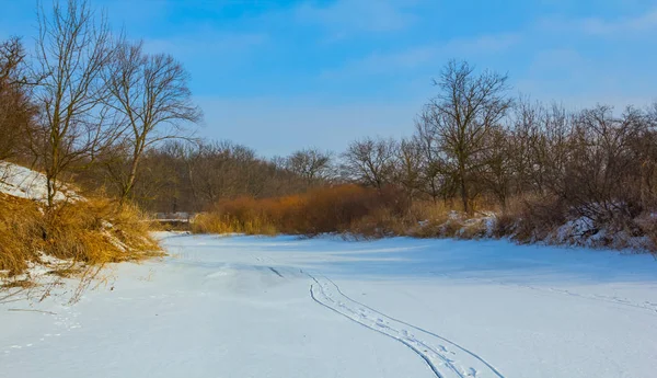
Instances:
[[[106,87],[101,80],[110,57],[110,31],[85,1],[55,2],[38,9],[34,101],[37,125],[27,133],[30,148],[44,170],[47,201],[53,206],[61,174],[88,163],[116,129],[101,106]]]

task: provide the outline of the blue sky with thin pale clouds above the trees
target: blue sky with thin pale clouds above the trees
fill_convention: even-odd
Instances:
[[[206,115],[200,136],[264,156],[410,135],[451,58],[508,72],[512,94],[573,108],[657,100],[654,0],[91,3],[185,64]],[[34,36],[34,8],[0,0],[0,37]]]

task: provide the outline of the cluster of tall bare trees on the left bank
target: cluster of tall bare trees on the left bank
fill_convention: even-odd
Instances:
[[[123,203],[147,150],[184,138],[200,121],[189,76],[172,56],[113,33],[87,1],[56,1],[36,13],[33,51],[19,37],[0,44],[0,158],[44,172],[48,207],[91,167]]]

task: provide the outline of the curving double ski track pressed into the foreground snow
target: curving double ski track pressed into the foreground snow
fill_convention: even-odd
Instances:
[[[314,282],[310,286],[310,296],[314,301],[360,325],[401,342],[423,358],[436,377],[504,378],[486,360],[457,343],[349,298],[327,277],[308,275]]]

